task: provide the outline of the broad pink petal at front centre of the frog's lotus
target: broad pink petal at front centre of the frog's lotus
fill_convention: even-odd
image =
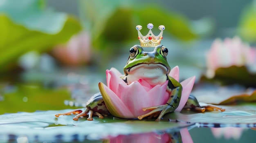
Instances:
[[[128,88],[122,92],[121,100],[134,114],[134,117],[130,118],[137,118],[138,116],[149,112],[143,111],[142,108],[150,107],[152,105],[148,93],[138,81],[132,82]]]

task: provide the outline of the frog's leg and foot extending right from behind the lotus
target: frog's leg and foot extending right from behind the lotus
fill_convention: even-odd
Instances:
[[[198,100],[193,95],[189,95],[189,99],[183,108],[186,110],[192,110],[196,112],[214,111],[214,110],[220,110],[221,112],[225,111],[224,108],[220,108],[216,105],[198,102]]]

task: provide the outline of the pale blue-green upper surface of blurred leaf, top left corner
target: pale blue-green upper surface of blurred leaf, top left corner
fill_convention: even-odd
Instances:
[[[2,0],[0,13],[7,15],[13,23],[22,25],[31,31],[59,33],[68,15],[46,9],[44,2],[43,0]]]

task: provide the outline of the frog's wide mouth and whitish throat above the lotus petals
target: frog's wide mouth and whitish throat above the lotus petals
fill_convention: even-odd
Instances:
[[[166,76],[169,70],[170,68],[161,63],[140,63],[130,68],[126,68],[125,72],[128,84],[133,81],[138,81],[139,79],[144,79],[150,85],[155,86],[157,84],[163,84],[166,81]]]

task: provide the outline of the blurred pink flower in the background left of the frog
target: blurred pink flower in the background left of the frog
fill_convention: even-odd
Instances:
[[[57,45],[53,49],[53,55],[69,65],[86,64],[91,58],[91,37],[90,33],[81,31],[73,35],[67,44]]]

